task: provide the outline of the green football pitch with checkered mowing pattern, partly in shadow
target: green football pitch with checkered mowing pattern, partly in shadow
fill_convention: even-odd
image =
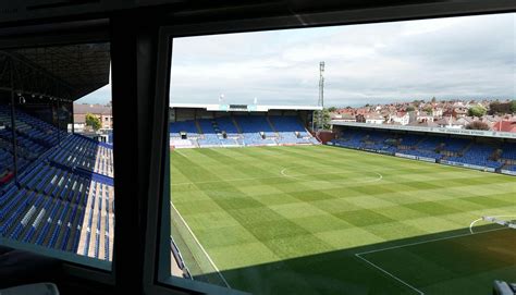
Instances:
[[[491,294],[516,282],[516,177],[329,146],[171,151],[196,280],[254,294]]]

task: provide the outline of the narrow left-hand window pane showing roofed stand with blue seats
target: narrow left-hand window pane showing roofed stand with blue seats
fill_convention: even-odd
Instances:
[[[98,119],[111,114],[109,50],[82,44],[0,51],[2,244],[110,266],[113,149],[103,138],[112,126]]]

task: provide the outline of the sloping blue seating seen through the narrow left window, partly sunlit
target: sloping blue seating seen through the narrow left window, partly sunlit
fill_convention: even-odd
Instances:
[[[58,136],[60,131],[53,125],[16,109],[20,158],[15,183],[5,179],[13,164],[7,112],[0,107],[0,120],[7,126],[0,130],[0,177],[4,180],[0,182],[0,235],[64,251],[79,253],[81,248],[79,254],[111,260],[111,146],[65,132]],[[87,241],[83,238],[86,234]]]

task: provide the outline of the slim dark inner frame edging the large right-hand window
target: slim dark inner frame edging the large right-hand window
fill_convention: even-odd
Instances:
[[[160,150],[152,160],[149,183],[148,217],[153,217],[147,224],[145,290],[155,294],[176,294],[175,292],[200,292],[209,294],[242,294],[198,281],[187,281],[170,273],[170,147],[169,114],[170,78],[172,72],[174,38],[209,36],[219,34],[266,32],[318,26],[355,25],[389,23],[400,21],[429,20],[469,15],[486,15],[516,12],[516,4],[507,3],[427,3],[380,9],[363,9],[325,13],[307,13],[288,16],[271,16],[251,20],[220,21],[201,24],[174,24],[165,22],[159,28],[158,65],[156,79],[157,105],[165,106],[167,115],[155,120],[153,147]],[[402,15],[402,16],[400,16]],[[163,102],[164,101],[164,102]],[[158,107],[158,106],[155,106]],[[157,122],[159,121],[159,122]],[[163,126],[164,125],[164,126]],[[167,140],[164,140],[164,138]],[[164,169],[164,170],[163,170]],[[157,171],[159,170],[159,171]],[[156,244],[152,246],[152,242]],[[171,293],[172,292],[172,293]]]

